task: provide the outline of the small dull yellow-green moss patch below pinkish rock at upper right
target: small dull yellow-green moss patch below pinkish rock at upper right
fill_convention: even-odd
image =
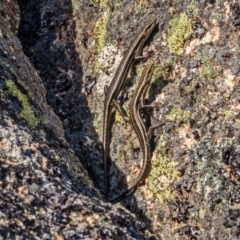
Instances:
[[[202,80],[212,80],[218,76],[208,56],[204,56],[201,63],[202,66],[200,67],[199,73]]]

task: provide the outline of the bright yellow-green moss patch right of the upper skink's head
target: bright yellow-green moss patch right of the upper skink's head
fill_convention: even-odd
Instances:
[[[181,13],[169,21],[168,48],[170,53],[180,55],[184,50],[185,40],[193,33],[191,20],[186,13]]]

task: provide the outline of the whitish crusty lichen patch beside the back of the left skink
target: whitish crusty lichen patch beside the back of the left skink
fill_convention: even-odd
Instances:
[[[98,56],[98,62],[101,66],[99,69],[99,78],[96,83],[96,92],[99,96],[104,95],[104,86],[109,85],[117,67],[122,59],[122,54],[115,46],[103,48]]]

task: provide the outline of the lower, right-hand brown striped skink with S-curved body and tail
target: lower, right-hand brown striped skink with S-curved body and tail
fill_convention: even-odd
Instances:
[[[130,103],[130,122],[133,126],[134,131],[139,139],[140,146],[143,153],[143,165],[138,177],[134,180],[130,187],[128,187],[120,196],[111,200],[114,202],[119,200],[124,195],[131,192],[137,185],[146,177],[146,174],[150,170],[151,166],[151,148],[148,139],[148,134],[146,132],[146,127],[140,116],[140,107],[143,107],[143,100],[145,99],[146,90],[150,84],[151,77],[153,73],[153,64],[149,64],[141,75],[137,89],[133,95],[132,101]]]

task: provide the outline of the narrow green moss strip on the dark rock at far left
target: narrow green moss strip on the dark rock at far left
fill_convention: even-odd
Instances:
[[[18,101],[21,103],[21,117],[25,118],[28,123],[32,126],[36,126],[38,120],[36,119],[32,107],[28,101],[28,97],[21,93],[21,91],[17,88],[16,84],[12,80],[6,81],[6,86],[8,87],[8,92],[12,96],[16,97]]]

